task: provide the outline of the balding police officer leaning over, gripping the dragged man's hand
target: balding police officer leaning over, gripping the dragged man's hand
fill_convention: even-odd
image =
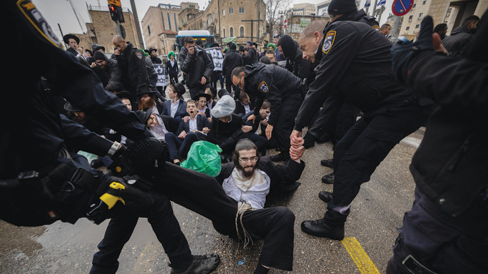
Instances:
[[[301,224],[307,234],[342,240],[360,185],[369,181],[389,151],[426,117],[413,94],[393,77],[391,42],[369,25],[337,21],[323,34],[320,29],[310,32],[305,28],[300,44],[307,58],[314,60],[316,51],[323,56],[295,119],[290,150],[304,149],[300,147],[301,129],[329,96],[343,98],[364,112],[334,149],[334,194],[325,216]]]

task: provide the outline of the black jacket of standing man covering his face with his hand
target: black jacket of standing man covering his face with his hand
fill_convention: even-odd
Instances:
[[[178,55],[180,69],[185,73],[185,82],[188,88],[200,86],[202,77],[210,82],[213,71],[213,61],[205,49],[195,46],[195,53],[190,55],[183,47]]]

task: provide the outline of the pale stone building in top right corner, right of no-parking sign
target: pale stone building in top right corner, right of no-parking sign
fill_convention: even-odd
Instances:
[[[488,0],[450,1],[450,0],[421,0],[413,4],[410,12],[405,14],[399,35],[409,39],[415,38],[420,30],[420,23],[424,16],[430,15],[434,25],[448,24],[448,35],[470,15],[483,16],[488,8]]]

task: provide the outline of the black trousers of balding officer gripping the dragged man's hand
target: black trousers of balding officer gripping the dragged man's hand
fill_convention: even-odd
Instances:
[[[364,114],[334,149],[334,195],[325,218],[337,219],[339,215],[330,211],[349,206],[391,149],[419,129],[426,118],[416,104]]]

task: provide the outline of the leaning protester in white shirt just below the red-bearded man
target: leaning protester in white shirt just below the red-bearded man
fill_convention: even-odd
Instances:
[[[159,140],[165,140],[167,132],[176,132],[176,129],[178,129],[178,124],[176,124],[174,119],[170,116],[154,114],[151,108],[136,110],[136,114],[142,123],[146,124],[152,136]]]

